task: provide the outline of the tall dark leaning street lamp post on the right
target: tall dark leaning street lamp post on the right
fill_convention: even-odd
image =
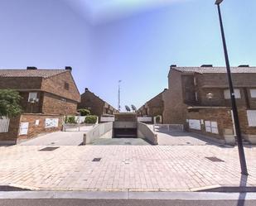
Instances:
[[[224,53],[225,53],[225,63],[226,63],[227,74],[228,74],[228,78],[229,78],[229,91],[230,91],[232,110],[233,110],[233,116],[234,116],[234,128],[235,128],[235,133],[236,133],[236,135],[234,135],[234,136],[236,136],[238,148],[239,148],[239,160],[240,160],[240,165],[241,165],[241,173],[242,173],[242,175],[248,175],[246,160],[245,160],[245,156],[244,156],[243,140],[242,140],[241,129],[240,129],[240,125],[239,125],[239,115],[238,115],[238,110],[237,110],[237,106],[235,103],[234,87],[233,87],[231,72],[230,72],[229,55],[228,55],[228,50],[227,50],[227,46],[226,46],[226,42],[225,42],[225,32],[224,32],[224,27],[223,27],[223,23],[222,23],[221,12],[220,12],[220,3],[221,2],[223,2],[223,0],[216,0],[215,4],[217,5],[218,12],[219,12],[220,30],[221,30],[221,36],[222,36],[222,41],[223,41]]]

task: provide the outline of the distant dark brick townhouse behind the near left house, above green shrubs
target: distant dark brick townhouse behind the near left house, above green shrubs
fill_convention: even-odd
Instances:
[[[88,88],[85,88],[85,93],[81,94],[81,102],[78,104],[78,108],[87,108],[92,114],[98,117],[118,113],[117,109],[89,91]]]

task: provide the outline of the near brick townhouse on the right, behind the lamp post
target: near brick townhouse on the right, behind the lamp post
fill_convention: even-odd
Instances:
[[[245,140],[256,143],[256,67],[231,68],[239,121]],[[163,95],[164,123],[234,144],[234,123],[225,67],[171,65]]]

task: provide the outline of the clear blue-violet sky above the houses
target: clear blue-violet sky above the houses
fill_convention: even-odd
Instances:
[[[115,108],[167,88],[170,65],[224,66],[214,0],[1,0],[0,69],[62,69]],[[256,1],[222,5],[230,65],[256,65]]]

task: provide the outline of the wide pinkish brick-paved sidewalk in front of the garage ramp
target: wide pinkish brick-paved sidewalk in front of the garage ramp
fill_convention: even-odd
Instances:
[[[237,147],[0,147],[0,184],[41,190],[191,191],[216,185],[256,185],[256,148],[245,148],[249,177],[241,179]],[[205,157],[216,156],[224,162]],[[92,161],[94,158],[102,159]]]

